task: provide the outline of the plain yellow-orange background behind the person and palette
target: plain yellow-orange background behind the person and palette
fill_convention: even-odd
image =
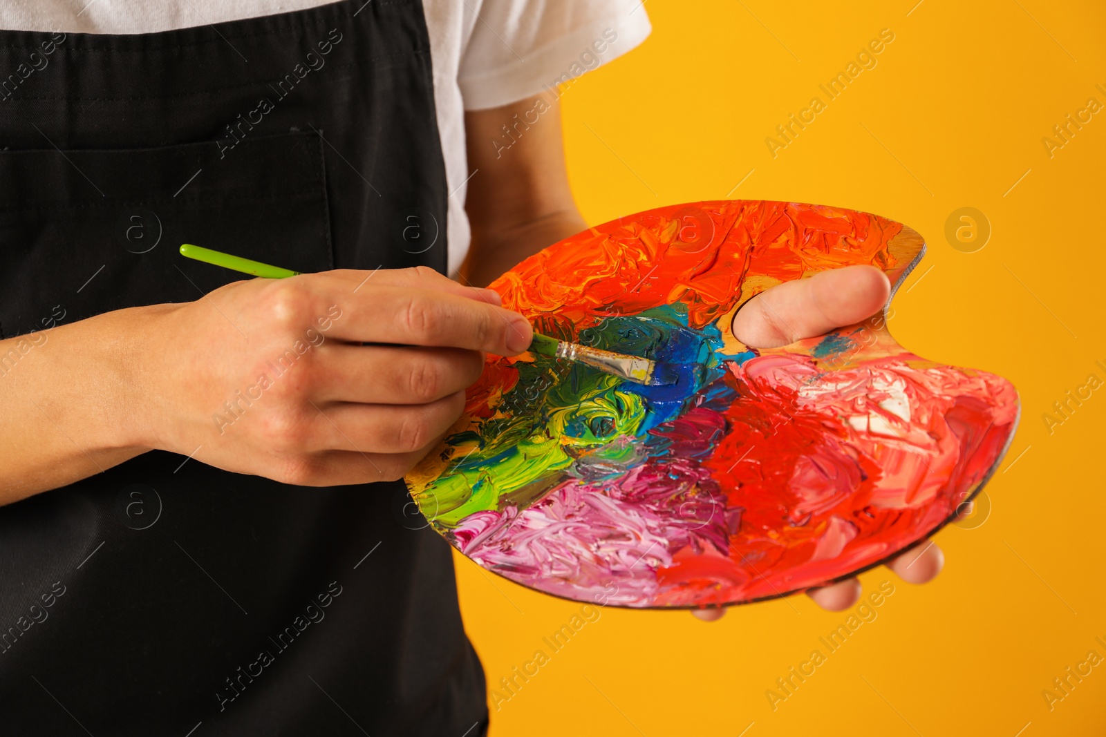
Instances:
[[[1042,695],[1063,696],[1053,678],[1088,651],[1106,659],[1106,389],[1084,389],[1063,422],[1043,418],[1060,420],[1053,402],[1088,375],[1106,381],[1095,364],[1106,366],[1106,110],[1051,157],[1042,143],[1089,97],[1106,105],[1106,6],[915,2],[648,0],[653,35],[570,85],[564,125],[592,223],[731,197],[867,210],[926,236],[891,333],[926,358],[1006,377],[1022,400],[987,497],[937,535],[946,570],[924,587],[883,568],[862,576],[865,596],[884,581],[894,593],[832,653],[820,638],[851,612],[803,596],[716,623],[603,609],[491,706],[494,737],[1106,731],[1106,661],[1062,701]],[[818,85],[881,29],[895,40],[876,66],[830,101]],[[773,157],[765,138],[780,140],[776,126],[814,96],[825,109]],[[958,250],[946,238],[963,207],[990,223],[973,252],[978,241]],[[550,653],[543,638],[580,612],[461,556],[457,571],[490,688]],[[773,708],[765,692],[783,695],[776,678],[815,649],[825,662]]]

